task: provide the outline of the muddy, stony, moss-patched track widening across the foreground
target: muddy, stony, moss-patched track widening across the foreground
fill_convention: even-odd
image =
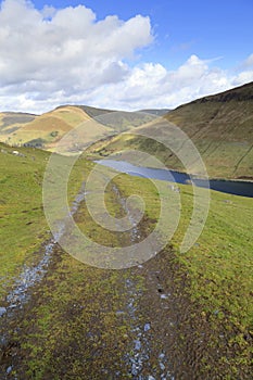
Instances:
[[[119,216],[111,190],[109,208]],[[75,219],[92,230],[85,203]],[[143,220],[146,236],[154,220]],[[127,244],[132,235],[100,230],[99,239]],[[170,245],[143,265],[109,270],[55,244],[30,300],[1,318],[1,379],[251,379],[248,351],[235,343],[240,331],[226,316],[204,312],[190,289]],[[243,339],[250,344],[251,335]]]

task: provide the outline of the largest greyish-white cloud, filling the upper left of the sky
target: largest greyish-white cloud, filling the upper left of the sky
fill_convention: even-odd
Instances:
[[[54,91],[76,93],[122,80],[123,63],[152,41],[149,17],[96,21],[78,5],[36,10],[24,0],[5,0],[0,11],[0,88],[2,96]],[[54,98],[54,97],[53,97]]]

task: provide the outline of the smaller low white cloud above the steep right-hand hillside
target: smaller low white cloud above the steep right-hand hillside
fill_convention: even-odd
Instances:
[[[146,63],[135,67],[118,84],[104,86],[93,96],[97,105],[140,110],[150,107],[173,109],[193,99],[217,93],[253,80],[253,71],[229,74],[210,66],[210,61],[191,55],[175,71],[161,64]]]

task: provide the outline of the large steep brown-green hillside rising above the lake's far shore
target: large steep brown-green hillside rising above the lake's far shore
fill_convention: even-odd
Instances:
[[[163,118],[190,137],[211,177],[253,179],[253,83],[180,105]],[[140,132],[152,129],[169,143],[166,123],[138,128]],[[163,145],[136,136],[116,137],[93,151],[107,155],[129,148],[146,150],[168,167],[184,170],[178,159]]]

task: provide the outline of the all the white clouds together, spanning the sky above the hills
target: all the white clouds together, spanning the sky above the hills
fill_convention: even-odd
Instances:
[[[253,80],[253,54],[229,74],[191,55],[175,71],[136,56],[154,40],[149,17],[102,21],[85,5],[0,9],[0,110],[42,113],[78,103],[118,110],[175,107]]]

